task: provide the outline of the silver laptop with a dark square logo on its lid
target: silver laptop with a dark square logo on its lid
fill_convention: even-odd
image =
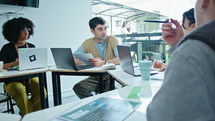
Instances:
[[[47,67],[47,48],[21,48],[19,55],[19,70]]]

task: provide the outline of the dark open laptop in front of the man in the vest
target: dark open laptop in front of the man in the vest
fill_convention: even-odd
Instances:
[[[92,65],[76,65],[71,48],[51,48],[51,52],[57,68],[81,70],[94,67]]]

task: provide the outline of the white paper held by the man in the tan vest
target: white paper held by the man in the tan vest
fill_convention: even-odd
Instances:
[[[74,54],[75,58],[80,60],[82,63],[86,65],[92,65],[89,59],[94,59],[92,53],[82,53],[82,54]]]

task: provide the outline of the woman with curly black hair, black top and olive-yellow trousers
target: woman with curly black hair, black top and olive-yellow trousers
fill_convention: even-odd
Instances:
[[[33,44],[26,42],[34,34],[34,27],[29,19],[22,17],[13,18],[3,24],[2,34],[9,41],[0,51],[0,61],[3,61],[4,69],[14,69],[19,65],[19,48],[35,48]],[[22,116],[41,109],[38,77],[6,80],[4,89],[15,100]]]

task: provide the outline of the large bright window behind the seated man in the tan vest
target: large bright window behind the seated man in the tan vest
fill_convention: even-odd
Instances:
[[[166,61],[168,46],[162,40],[162,24],[148,23],[145,20],[165,21],[173,18],[181,21],[183,12],[194,7],[193,1],[195,0],[92,0],[92,14],[103,17],[108,22],[108,35],[115,35],[122,44],[128,43],[136,54],[139,52],[139,60],[156,59],[152,57],[153,54],[160,53],[162,60]],[[127,30],[133,35],[130,38],[122,33],[123,22],[127,20],[130,21],[130,29]],[[140,46],[137,46],[140,40],[143,41],[143,54],[140,54]]]

